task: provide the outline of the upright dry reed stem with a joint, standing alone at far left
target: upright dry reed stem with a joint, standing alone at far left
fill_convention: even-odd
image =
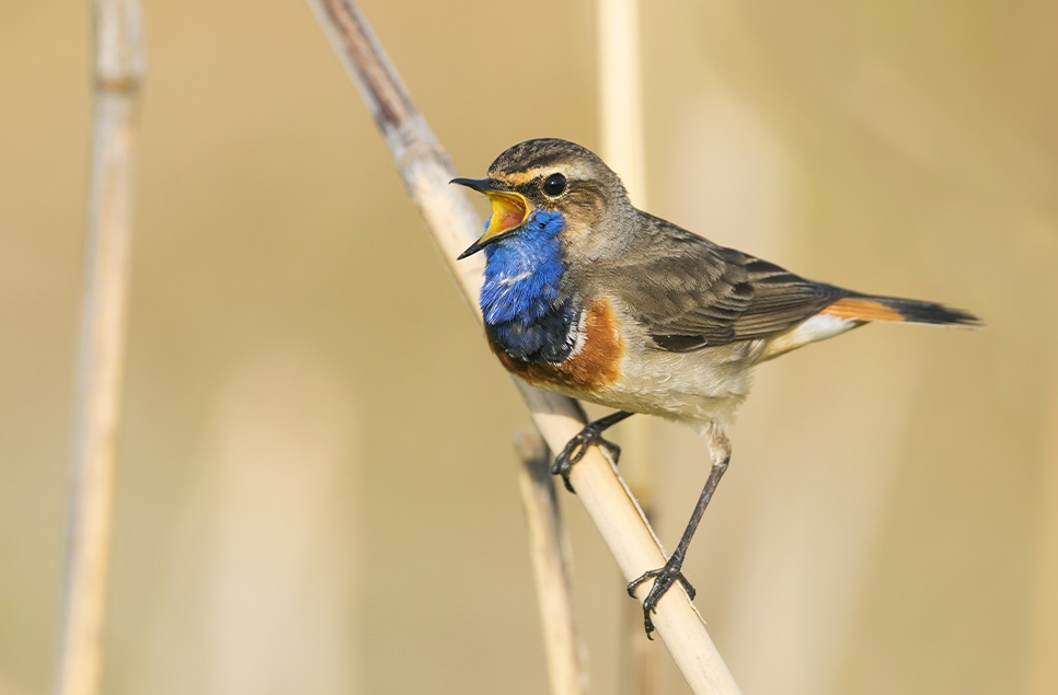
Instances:
[[[120,418],[133,208],[133,132],[143,44],[137,0],[92,3],[94,134],[78,345],[64,607],[55,693],[96,693]]]

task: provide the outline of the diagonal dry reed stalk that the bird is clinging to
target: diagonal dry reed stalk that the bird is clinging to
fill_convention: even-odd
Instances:
[[[482,282],[482,264],[479,260],[457,265],[456,256],[473,241],[480,225],[465,194],[448,185],[455,176],[448,157],[416,111],[356,5],[350,0],[307,1],[371,109],[441,257],[467,300],[474,304]],[[518,380],[515,385],[552,450],[561,450],[583,427],[584,415],[576,402]],[[597,448],[574,466],[571,478],[577,499],[628,580],[665,563],[657,538],[640,508],[610,461]],[[641,595],[646,593],[648,584],[644,582],[640,587]],[[682,590],[669,591],[662,599],[654,624],[694,693],[739,692],[705,632],[705,624]]]

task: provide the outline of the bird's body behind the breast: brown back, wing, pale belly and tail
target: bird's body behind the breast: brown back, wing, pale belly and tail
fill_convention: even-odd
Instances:
[[[618,378],[571,395],[691,424],[729,421],[762,360],[870,321],[976,321],[808,280],[639,213],[620,253],[578,260],[564,278],[586,305],[609,308],[622,343]]]

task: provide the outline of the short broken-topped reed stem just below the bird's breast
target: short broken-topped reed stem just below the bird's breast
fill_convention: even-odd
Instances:
[[[551,692],[579,695],[587,690],[587,675],[574,619],[570,540],[559,514],[551,450],[536,428],[526,426],[515,432],[515,451],[521,463],[518,487],[529,526],[529,556],[537,583]]]

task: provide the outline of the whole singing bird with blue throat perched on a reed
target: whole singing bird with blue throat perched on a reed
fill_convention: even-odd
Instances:
[[[620,177],[585,147],[538,138],[510,147],[484,178],[484,233],[459,259],[485,255],[479,304],[492,351],[514,375],[614,413],[589,422],[555,457],[570,471],[602,432],[645,414],[699,430],[711,462],[691,519],[643,600],[644,628],[682,575],[691,538],[731,461],[727,428],[754,368],[873,322],[975,327],[942,304],[864,294],[802,278],[635,208]]]

